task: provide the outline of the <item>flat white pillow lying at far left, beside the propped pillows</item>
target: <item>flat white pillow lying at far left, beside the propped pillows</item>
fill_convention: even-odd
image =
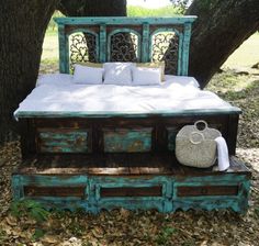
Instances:
[[[68,86],[72,83],[72,76],[68,74],[46,74],[40,75],[36,81],[36,87],[43,85],[50,86]]]

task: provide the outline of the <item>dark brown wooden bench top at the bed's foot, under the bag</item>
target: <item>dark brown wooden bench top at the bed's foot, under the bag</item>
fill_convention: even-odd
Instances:
[[[236,157],[230,157],[227,171],[216,168],[193,168],[180,165],[172,154],[48,154],[31,156],[24,160],[14,174],[44,175],[170,175],[187,176],[224,176],[227,174],[244,174],[251,176],[249,169]]]

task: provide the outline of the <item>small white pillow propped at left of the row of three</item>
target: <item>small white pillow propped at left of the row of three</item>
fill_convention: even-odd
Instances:
[[[83,85],[102,83],[103,68],[75,65],[74,82]]]

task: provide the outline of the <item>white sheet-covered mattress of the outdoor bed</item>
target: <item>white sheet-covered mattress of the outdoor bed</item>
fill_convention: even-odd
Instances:
[[[54,77],[56,76],[56,79]],[[14,116],[85,113],[138,114],[189,110],[230,110],[228,102],[199,89],[192,77],[166,76],[161,86],[75,85],[69,75],[45,76]],[[54,80],[53,80],[54,79]]]

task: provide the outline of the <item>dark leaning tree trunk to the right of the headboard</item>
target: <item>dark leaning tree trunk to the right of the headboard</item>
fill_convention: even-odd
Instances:
[[[204,88],[227,57],[259,26],[258,0],[194,0],[190,69]]]

